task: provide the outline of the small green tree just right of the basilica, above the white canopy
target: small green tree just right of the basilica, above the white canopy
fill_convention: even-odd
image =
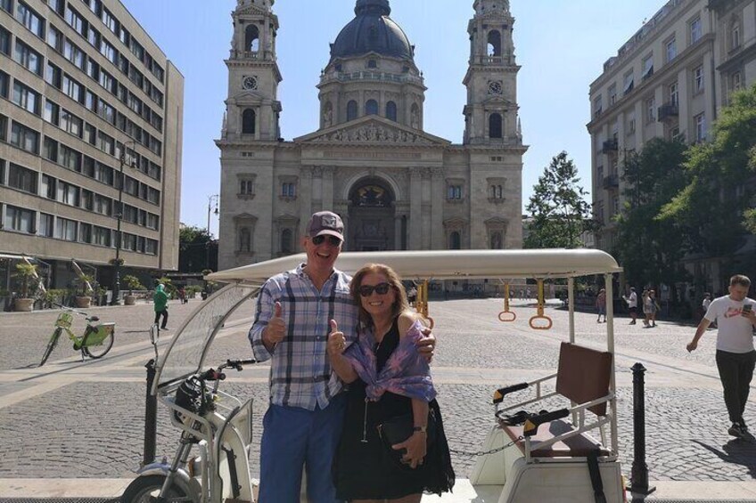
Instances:
[[[583,245],[583,232],[598,229],[579,182],[578,168],[567,152],[552,159],[533,187],[527,207],[532,221],[523,247],[577,248]]]

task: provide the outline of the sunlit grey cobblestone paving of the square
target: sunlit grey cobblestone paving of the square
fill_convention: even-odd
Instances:
[[[196,302],[171,304],[169,325],[176,329]],[[227,322],[208,361],[217,363],[251,354],[246,340],[249,322],[244,318],[251,317],[252,309],[250,303]],[[432,368],[444,376],[438,385],[439,402],[452,449],[481,449],[493,422],[491,393],[497,385],[512,384],[486,384],[481,378],[470,377],[471,371],[472,375],[492,369],[510,370],[515,375],[518,369],[542,370],[544,375],[554,371],[558,344],[567,334],[567,313],[548,310],[555,318],[555,327],[542,332],[527,326],[534,309],[516,304],[514,309],[520,317],[505,324],[496,318],[501,304],[493,299],[431,303],[431,315],[436,321],[434,333],[439,339]],[[36,364],[55,313],[0,315],[0,344],[5,348],[0,355],[0,398],[45,379],[71,379],[70,384],[52,392],[0,408],[0,445],[4,446],[0,478],[129,477],[139,465],[144,427],[143,366],[152,349],[136,343],[144,343],[147,338],[144,330],[152,320],[152,306],[99,308],[91,312],[118,324],[113,351],[102,361],[82,364],[70,345],[62,344],[48,365],[33,372],[23,368]],[[692,326],[661,321],[657,329],[643,329],[627,322],[625,318],[615,322],[623,472],[629,475],[633,456],[629,366],[642,361],[648,369],[647,381],[653,382],[647,385],[645,396],[650,478],[752,481],[756,477],[756,443],[732,440],[726,432],[727,414],[713,361],[715,332],[703,338],[696,353],[688,354],[685,344],[694,333]],[[77,326],[82,327],[83,321],[78,320]],[[576,327],[579,341],[604,344],[605,326],[597,324],[593,314],[576,313]],[[161,336],[168,342],[172,332]],[[265,376],[267,364],[261,364],[251,372],[234,372],[224,383],[224,389],[256,399],[253,474],[259,470],[260,423],[267,407]],[[19,381],[25,378],[28,380]],[[755,412],[749,404],[746,418],[752,418],[754,424]],[[158,430],[159,457],[172,455],[178,434],[169,425],[165,410],[160,410]],[[467,476],[474,460],[455,455],[454,463],[457,476]]]

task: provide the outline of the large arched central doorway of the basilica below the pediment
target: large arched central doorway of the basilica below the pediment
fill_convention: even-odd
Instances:
[[[382,251],[394,245],[395,195],[379,178],[364,178],[349,191],[350,251]]]

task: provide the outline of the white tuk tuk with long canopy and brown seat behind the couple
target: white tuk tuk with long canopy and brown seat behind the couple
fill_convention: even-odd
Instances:
[[[196,503],[254,501],[253,481],[248,480],[251,400],[220,392],[219,379],[210,393],[226,402],[223,407],[192,409],[185,401],[179,403],[177,394],[187,380],[207,377],[210,382],[206,361],[210,346],[231,313],[257,296],[268,278],[303,262],[304,254],[286,256],[206,278],[226,286],[199,304],[178,329],[157,360],[152,387],[152,394],[171,411],[174,426],[183,431],[185,447],[171,463],[144,466],[140,477],[152,477],[152,484],[142,483],[149,486],[139,493],[143,497],[173,495]],[[605,349],[577,343],[574,317],[575,279],[580,276],[604,276],[606,296],[613,298],[612,275],[621,268],[612,256],[593,249],[342,252],[335,267],[353,273],[368,263],[388,264],[404,280],[414,280],[420,286],[427,280],[536,279],[540,295],[537,314],[530,319],[532,329],[551,326],[550,320],[547,326],[541,323],[548,318],[543,310],[543,281],[566,280],[569,333],[563,335],[555,372],[492,390],[496,410],[482,446],[488,453],[477,459],[469,481],[486,497],[473,500],[583,503],[602,491],[608,502],[623,501],[612,303],[606,304]],[[505,290],[508,294],[509,288]],[[418,288],[416,307],[427,314],[427,288]],[[499,319],[505,321],[506,317]],[[226,368],[247,363],[251,361],[228,361]],[[522,399],[520,392],[530,396]],[[514,400],[512,395],[520,398]],[[539,402],[556,399],[564,406],[535,411]],[[201,451],[196,462],[189,455],[192,446]],[[449,495],[442,500],[462,499]]]

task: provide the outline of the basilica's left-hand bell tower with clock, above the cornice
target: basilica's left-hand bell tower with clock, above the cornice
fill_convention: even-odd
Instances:
[[[275,57],[278,18],[275,0],[237,0],[231,13],[234,37],[228,68],[228,98],[223,140],[276,142],[281,136],[278,84],[281,72]]]

